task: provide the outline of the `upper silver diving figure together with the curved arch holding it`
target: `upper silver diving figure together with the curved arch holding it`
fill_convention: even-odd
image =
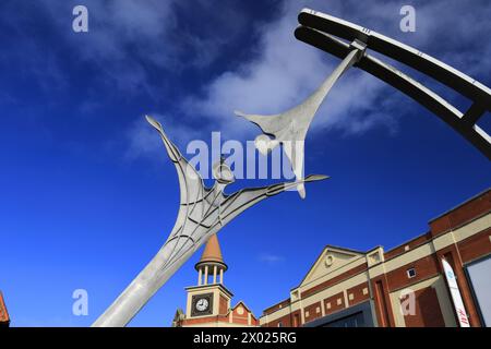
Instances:
[[[491,111],[490,88],[415,48],[359,25],[310,9],[302,10],[298,19],[301,25],[295,31],[295,36],[299,40],[342,58],[343,61],[318,91],[302,104],[286,112],[260,116],[236,111],[236,115],[244,117],[263,131],[263,134],[255,139],[255,146],[262,154],[266,154],[282,144],[295,176],[297,179],[301,179],[303,177],[304,140],[310,123],[337,80],[350,67],[357,67],[414,98],[491,159],[491,137],[477,125],[477,121],[482,115]],[[351,41],[351,44],[335,38],[331,34]],[[447,85],[469,98],[472,105],[465,113],[460,112],[428,87],[367,53],[369,48]],[[302,184],[299,184],[297,190],[300,196],[306,196]]]

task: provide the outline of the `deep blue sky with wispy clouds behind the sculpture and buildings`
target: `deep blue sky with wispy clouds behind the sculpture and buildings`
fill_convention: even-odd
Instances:
[[[72,31],[75,4],[88,9],[88,33]],[[415,33],[399,31],[404,4],[416,9]],[[224,141],[244,142],[258,129],[235,109],[284,111],[327,76],[338,60],[294,37],[303,7],[399,39],[491,85],[489,1],[1,2],[0,290],[13,326],[89,325],[164,243],[179,189],[145,113],[181,148],[218,130]],[[488,115],[481,127],[490,125]],[[226,286],[256,315],[288,297],[325,244],[390,249],[490,185],[483,155],[356,69],[322,106],[306,158],[307,173],[332,179],[310,185],[304,201],[295,192],[265,201],[219,234]],[[170,324],[184,306],[183,288],[196,282],[197,258],[132,326]],[[88,316],[72,315],[79,288],[88,291]]]

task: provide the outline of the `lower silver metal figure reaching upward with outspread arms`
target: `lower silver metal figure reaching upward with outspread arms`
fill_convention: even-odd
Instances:
[[[288,182],[226,194],[225,188],[232,183],[235,178],[221,159],[213,168],[215,184],[213,188],[205,188],[201,176],[169,141],[160,123],[149,117],[146,119],[160,134],[167,154],[176,166],[180,186],[179,214],[166,243],[93,326],[125,326],[211,236],[217,233],[244,209],[298,185],[298,182]],[[313,174],[301,182],[326,178]]]

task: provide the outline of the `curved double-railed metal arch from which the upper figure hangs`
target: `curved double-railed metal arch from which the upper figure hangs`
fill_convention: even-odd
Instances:
[[[490,88],[412,47],[350,22],[304,9],[299,14],[299,23],[295,36],[323,51],[343,59],[350,52],[350,45],[333,35],[359,40],[367,48],[411,67],[472,100],[463,113],[421,83],[367,52],[354,64],[424,106],[491,159],[491,137],[476,124],[484,112],[491,111]]]

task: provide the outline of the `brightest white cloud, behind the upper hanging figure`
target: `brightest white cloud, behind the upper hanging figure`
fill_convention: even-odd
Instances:
[[[233,135],[243,132],[247,123],[233,117],[236,109],[268,115],[301,103],[339,61],[326,58],[325,53],[294,37],[299,10],[287,3],[282,17],[261,29],[260,55],[237,71],[224,72],[204,87],[204,97],[188,98],[184,108],[199,110]],[[366,75],[344,76],[320,110],[316,123],[343,125],[351,133],[372,128],[376,124],[373,120],[358,120],[351,116],[368,110],[383,87]]]

